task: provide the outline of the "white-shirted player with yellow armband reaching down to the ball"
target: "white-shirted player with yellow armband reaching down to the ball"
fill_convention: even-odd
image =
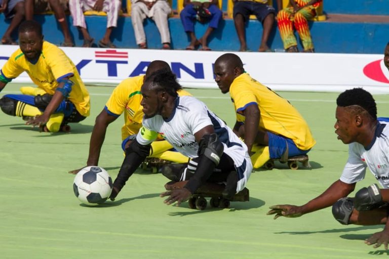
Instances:
[[[188,167],[174,176],[177,181],[188,180],[184,188],[162,194],[169,196],[165,200],[167,204],[187,200],[200,186],[211,181],[210,178],[226,182],[224,198],[234,196],[246,186],[252,170],[246,145],[203,102],[190,96],[179,97],[180,89],[169,69],[159,70],[145,79],[141,88],[143,127],[126,149],[111,199],[149,154],[150,143],[158,134],[177,151],[192,158]]]

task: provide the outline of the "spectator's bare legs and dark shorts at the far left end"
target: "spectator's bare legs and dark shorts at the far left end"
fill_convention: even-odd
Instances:
[[[0,13],[4,13],[7,19],[11,20],[6,32],[2,37],[3,45],[18,45],[11,37],[11,33],[19,26],[24,19],[23,0],[0,0]]]

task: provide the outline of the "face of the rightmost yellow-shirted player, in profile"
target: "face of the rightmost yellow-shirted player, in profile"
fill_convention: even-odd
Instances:
[[[237,68],[231,67],[227,62],[216,62],[214,67],[215,82],[223,94],[229,92],[229,87],[235,77],[238,76],[235,70]]]

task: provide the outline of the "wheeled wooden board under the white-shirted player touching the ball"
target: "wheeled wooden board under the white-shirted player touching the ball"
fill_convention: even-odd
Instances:
[[[182,181],[182,182],[174,182],[171,181],[165,185],[165,189],[168,191],[174,190],[174,189],[181,189],[183,188],[188,181]],[[234,195],[234,198],[232,199],[224,199],[222,196],[222,192],[225,188],[225,185],[223,184],[216,184],[216,183],[206,183],[205,185],[201,186],[197,191],[189,198],[188,200],[188,206],[192,209],[199,209],[204,210],[207,205],[208,201],[206,198],[211,198],[209,200],[209,204],[213,208],[229,208],[230,201],[249,201],[250,194],[249,189],[244,188],[242,191]]]

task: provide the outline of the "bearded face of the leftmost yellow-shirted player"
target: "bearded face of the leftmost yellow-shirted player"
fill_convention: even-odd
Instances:
[[[19,33],[19,47],[29,61],[35,61],[42,52],[43,36],[35,31]]]

